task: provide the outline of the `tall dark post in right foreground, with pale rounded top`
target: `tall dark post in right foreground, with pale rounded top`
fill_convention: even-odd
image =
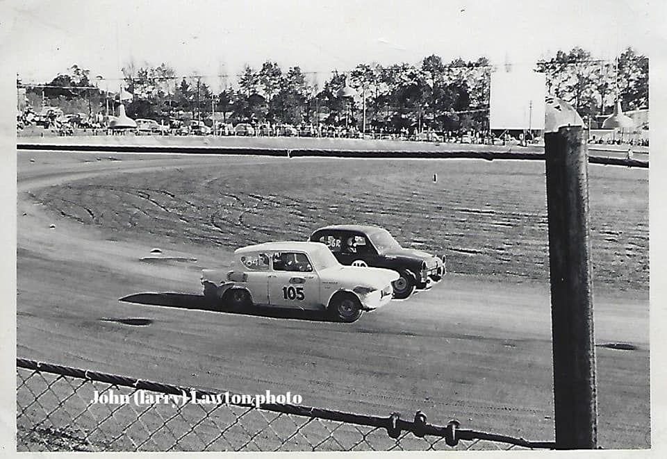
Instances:
[[[595,449],[598,402],[588,237],[588,151],[579,115],[562,101],[555,104],[561,109],[555,115],[552,111],[551,121],[559,118],[561,122],[545,126],[544,138],[556,444],[558,449]],[[545,124],[550,120],[549,112],[547,99]]]

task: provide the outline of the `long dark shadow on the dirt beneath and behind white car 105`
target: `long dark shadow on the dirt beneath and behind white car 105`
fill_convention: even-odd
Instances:
[[[232,310],[222,303],[213,304],[203,295],[187,293],[137,293],[120,298],[118,301],[139,303],[148,306],[165,306],[167,308],[198,309],[204,311],[225,312],[228,314],[270,317],[272,319],[299,319],[314,322],[338,322],[326,312],[300,310],[293,308],[263,308],[252,306],[245,310]]]

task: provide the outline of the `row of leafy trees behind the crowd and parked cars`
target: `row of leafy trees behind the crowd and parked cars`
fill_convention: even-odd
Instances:
[[[584,119],[609,114],[617,98],[625,110],[648,108],[648,58],[632,48],[614,60],[596,59],[582,48],[557,51],[536,62],[534,69],[545,74],[547,92],[572,103]],[[210,119],[215,112],[216,119],[233,124],[361,128],[365,112],[367,131],[483,131],[488,128],[490,77],[495,70],[485,57],[445,62],[431,55],[419,65],[360,63],[349,72],[334,70],[318,85],[298,66],[285,70],[266,61],[259,68],[246,65],[235,85],[221,81],[222,90],[213,92],[206,78],[176,76],[165,63],[130,63],[122,69],[122,88],[132,94],[126,111],[137,118]],[[342,94],[344,86],[352,91]],[[81,111],[97,112],[104,110],[106,89],[90,70],[74,65],[41,89],[28,87],[28,93],[31,100],[43,96],[52,104],[79,101]]]

